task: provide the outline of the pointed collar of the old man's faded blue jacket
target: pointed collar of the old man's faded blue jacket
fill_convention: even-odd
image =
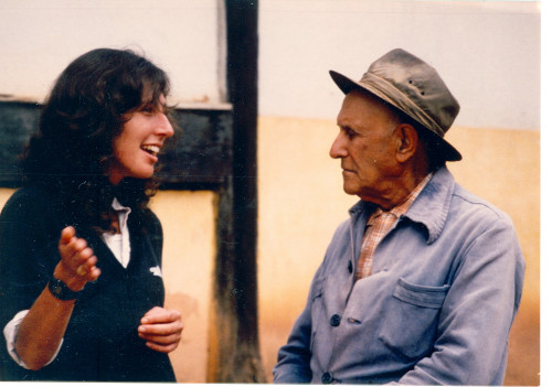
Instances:
[[[427,229],[427,244],[433,244],[445,227],[455,184],[452,173],[446,166],[442,166],[435,171],[432,180],[403,216],[403,218],[408,218],[425,226]],[[374,209],[375,205],[373,203],[359,201],[349,209],[349,214],[354,219],[354,223],[358,221],[365,222]]]

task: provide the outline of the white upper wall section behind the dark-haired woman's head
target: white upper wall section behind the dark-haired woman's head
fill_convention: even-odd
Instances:
[[[0,0],[0,94],[42,99],[85,52],[129,47],[169,73],[174,101],[219,103],[216,0]]]

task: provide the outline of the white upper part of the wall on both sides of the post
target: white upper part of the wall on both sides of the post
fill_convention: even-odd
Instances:
[[[244,0],[245,1],[245,0]],[[43,98],[98,46],[142,50],[176,101],[220,103],[217,0],[1,0],[0,94]],[[328,69],[360,78],[394,47],[460,101],[456,123],[540,128],[539,1],[259,0],[262,116],[333,118]]]

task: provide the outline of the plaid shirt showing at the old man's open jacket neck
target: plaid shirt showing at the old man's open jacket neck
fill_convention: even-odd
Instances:
[[[417,195],[424,190],[432,179],[432,175],[433,173],[429,173],[425,176],[425,179],[410,193],[402,204],[388,212],[378,207],[372,215],[370,215],[367,222],[364,238],[362,239],[362,248],[360,250],[359,261],[357,265],[357,272],[354,273],[355,281],[371,275],[372,258],[375,248],[401,215],[406,214]]]

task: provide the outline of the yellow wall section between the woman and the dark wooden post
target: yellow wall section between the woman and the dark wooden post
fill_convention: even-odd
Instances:
[[[215,258],[212,192],[162,191],[152,209],[164,234],[166,307],[182,313],[184,331],[171,361],[178,381],[205,383],[211,279]]]

